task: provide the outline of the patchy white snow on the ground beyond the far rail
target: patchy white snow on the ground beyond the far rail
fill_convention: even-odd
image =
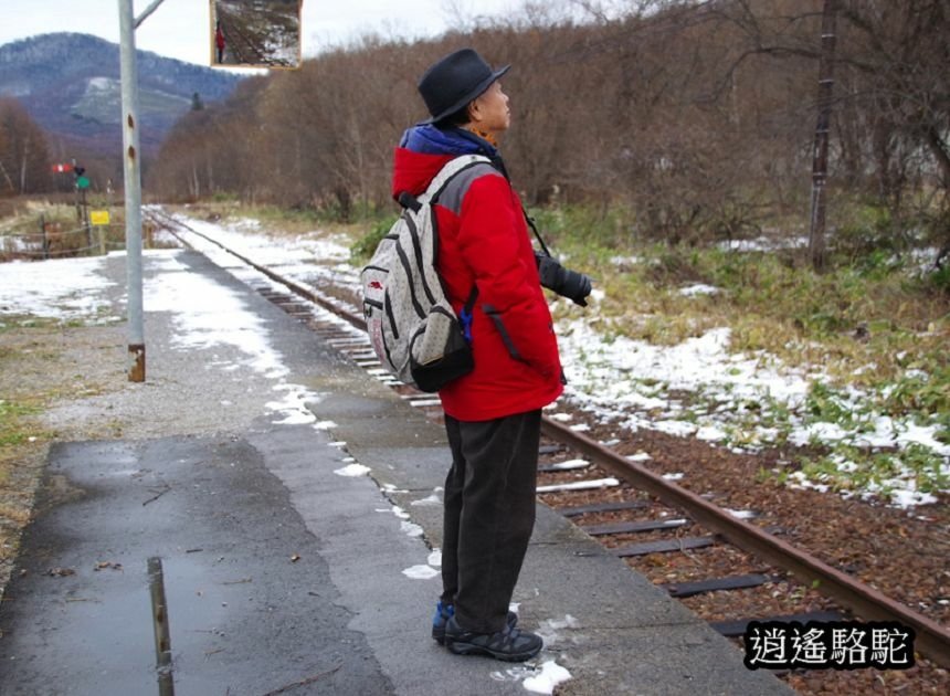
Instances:
[[[358,270],[347,263],[349,251],[342,238],[275,242],[256,232],[253,222],[230,228],[193,220],[188,223],[249,256],[281,266],[293,277],[309,278],[315,284],[326,280],[352,289],[359,287]],[[207,226],[202,229],[202,224]],[[799,240],[785,243],[796,244]],[[774,241],[761,239],[732,244],[731,249],[747,251],[774,245]],[[635,257],[618,259],[625,263],[637,261]],[[313,265],[315,262],[320,264],[317,270]],[[680,292],[699,295],[717,291],[694,285]],[[676,346],[653,346],[623,337],[606,340],[588,321],[597,316],[597,303],[602,299],[602,293],[594,293],[591,299],[591,307],[581,318],[562,319],[557,329],[569,381],[564,398],[593,411],[602,420],[614,420],[632,430],[658,430],[736,450],[757,451],[772,444],[780,435],[773,421],[779,411],[788,411],[788,439],[792,444],[846,442],[900,452],[917,443],[940,455],[942,471],[950,475],[950,446],[936,440],[936,425],[920,426],[909,420],[880,415],[870,424],[858,422],[852,430],[844,430],[838,423],[806,422],[803,407],[812,384],[828,381],[820,367],[792,369],[764,352],[732,354],[727,327]],[[868,400],[868,394],[856,389],[843,393],[845,400],[841,405],[852,412],[859,412]],[[685,399],[671,394],[684,394]],[[842,461],[841,471],[847,472],[848,465]],[[808,478],[792,481],[791,485],[827,488],[822,482]],[[932,496],[916,489],[915,474],[909,468],[896,472],[888,481],[869,483],[864,491],[855,493],[865,496],[885,493],[891,503],[900,506],[933,500]]]

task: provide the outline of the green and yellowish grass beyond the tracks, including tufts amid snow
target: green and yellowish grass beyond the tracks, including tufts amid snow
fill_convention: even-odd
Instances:
[[[820,422],[847,433],[838,443],[814,442],[794,451],[791,470],[763,476],[781,481],[800,468],[834,489],[872,489],[885,497],[893,485],[888,481],[897,477],[912,479],[925,493],[950,486],[941,470],[946,457],[932,450],[917,444],[899,452],[873,449],[862,437],[889,416],[902,424],[936,425],[937,440],[950,444],[950,272],[921,273],[910,254],[896,253],[876,236],[882,222],[872,219],[876,226],[866,233],[866,246],[859,225],[848,230],[830,267],[816,273],[803,251],[740,253],[637,243],[622,215],[598,218],[590,211],[545,211],[537,218],[566,265],[591,275],[605,293],[595,317],[603,333],[676,345],[730,327],[732,351],[774,356],[785,366],[826,376],[812,383],[798,413],[770,398],[737,404],[722,442],[729,446],[784,449],[793,428]],[[719,292],[679,293],[697,283]],[[558,303],[556,318],[576,312]],[[852,388],[865,397],[855,400]],[[701,424],[717,405],[703,393],[690,401],[680,420]],[[772,433],[764,443],[762,429]]]

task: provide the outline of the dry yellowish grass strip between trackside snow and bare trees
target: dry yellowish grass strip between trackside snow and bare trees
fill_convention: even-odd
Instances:
[[[592,275],[605,294],[602,325],[629,338],[671,346],[728,326],[737,352],[820,365],[837,383],[863,387],[909,368],[933,371],[946,360],[950,294],[928,286],[910,263],[816,274],[783,252],[647,247],[623,265],[611,261],[614,249],[569,252],[569,265]],[[718,292],[680,293],[697,283]]]

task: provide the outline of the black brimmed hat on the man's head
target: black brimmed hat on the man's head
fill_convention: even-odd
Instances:
[[[435,123],[462,109],[510,67],[505,65],[493,71],[472,49],[450,53],[426,70],[419,81],[419,93],[432,115],[422,123]]]

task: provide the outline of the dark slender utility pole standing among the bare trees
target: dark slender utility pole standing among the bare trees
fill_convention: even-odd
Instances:
[[[819,120],[815,127],[815,150],[812,160],[812,210],[809,225],[809,256],[812,267],[825,265],[825,182],[828,170],[828,130],[831,128],[834,87],[835,25],[837,0],[824,0],[822,13],[822,53],[819,59]]]

